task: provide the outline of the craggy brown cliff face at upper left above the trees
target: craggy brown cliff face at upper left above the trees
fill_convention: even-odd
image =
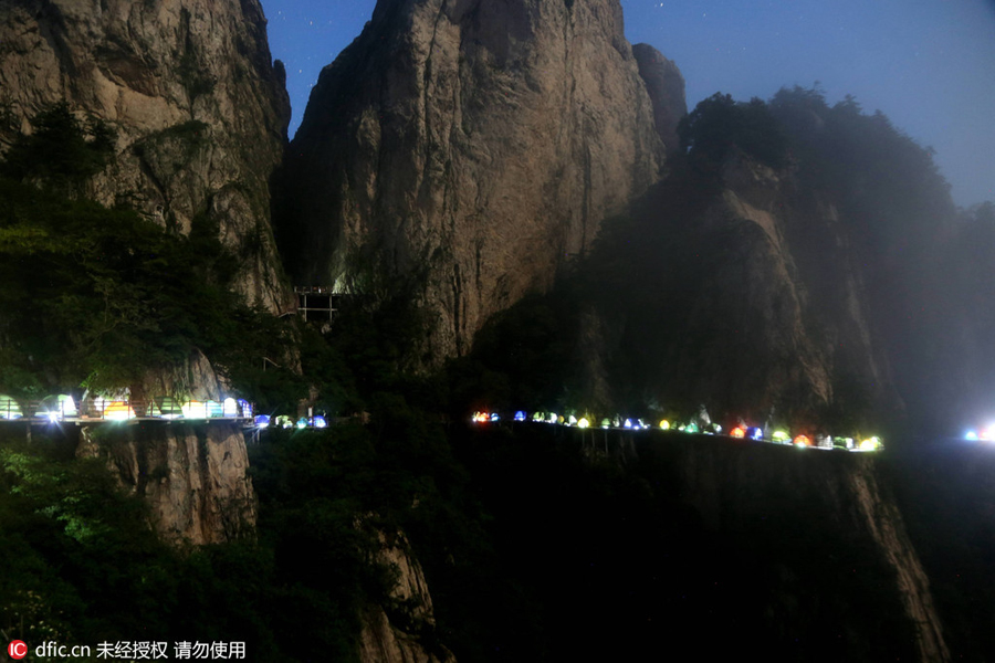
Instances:
[[[117,158],[87,193],[184,233],[217,224],[247,299],[286,309],[268,180],[290,107],[255,0],[2,0],[0,91],[0,143],[61,101],[104,120]]]

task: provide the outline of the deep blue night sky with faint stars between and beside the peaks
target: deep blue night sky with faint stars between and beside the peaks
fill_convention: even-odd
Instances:
[[[363,29],[375,0],[262,0],[294,117],[321,69]],[[785,85],[852,94],[923,146],[954,200],[995,201],[995,0],[622,0],[630,42],[677,62],[688,106],[715,92],[769,98]]]

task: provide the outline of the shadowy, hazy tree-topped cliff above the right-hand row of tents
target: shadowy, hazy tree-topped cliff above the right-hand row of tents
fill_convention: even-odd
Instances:
[[[580,317],[589,402],[850,430],[874,406],[879,423],[901,409],[831,198],[736,152],[715,179],[664,182],[635,217],[609,228],[587,276],[600,293]]]

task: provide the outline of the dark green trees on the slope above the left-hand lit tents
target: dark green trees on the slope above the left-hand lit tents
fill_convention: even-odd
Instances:
[[[64,105],[35,124],[0,169],[0,392],[119,391],[198,351],[264,407],[306,392],[292,371],[264,371],[294,330],[231,291],[238,261],[206,214],[179,235],[70,197],[106,164],[108,131],[86,140]]]

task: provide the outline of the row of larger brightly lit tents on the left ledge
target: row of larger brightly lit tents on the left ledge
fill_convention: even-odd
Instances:
[[[19,419],[59,421],[128,421],[132,419],[248,419],[252,420],[252,404],[243,399],[222,401],[179,400],[170,397],[148,401],[125,398],[84,397],[77,404],[72,396],[60,393],[40,401],[18,401],[0,394],[0,420]]]

